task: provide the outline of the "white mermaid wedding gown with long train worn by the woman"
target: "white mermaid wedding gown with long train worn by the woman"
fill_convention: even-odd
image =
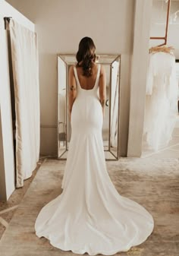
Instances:
[[[77,254],[111,255],[128,251],[151,234],[152,215],[124,198],[105,166],[98,65],[91,90],[80,87],[71,112],[71,141],[64,169],[63,191],[39,212],[35,230],[56,248]]]

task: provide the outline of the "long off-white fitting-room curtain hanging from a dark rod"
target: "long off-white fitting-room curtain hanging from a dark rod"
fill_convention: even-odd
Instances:
[[[16,112],[16,187],[39,160],[39,60],[37,35],[11,20],[11,55]]]

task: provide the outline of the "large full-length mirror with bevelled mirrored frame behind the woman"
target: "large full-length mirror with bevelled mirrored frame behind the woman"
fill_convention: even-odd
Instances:
[[[102,126],[105,160],[118,160],[121,59],[120,55],[97,56],[96,62],[102,64],[106,72],[105,118]],[[71,122],[68,115],[68,71],[76,62],[75,55],[58,54],[58,160],[66,160],[71,140]]]

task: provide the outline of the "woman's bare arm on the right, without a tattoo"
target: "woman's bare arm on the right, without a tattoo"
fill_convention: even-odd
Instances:
[[[99,100],[102,104],[103,118],[105,116],[105,100],[106,100],[106,74],[105,68],[101,65],[101,72],[99,76]]]

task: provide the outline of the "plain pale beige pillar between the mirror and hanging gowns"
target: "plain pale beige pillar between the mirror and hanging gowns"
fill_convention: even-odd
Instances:
[[[127,156],[141,156],[152,0],[136,0]]]

